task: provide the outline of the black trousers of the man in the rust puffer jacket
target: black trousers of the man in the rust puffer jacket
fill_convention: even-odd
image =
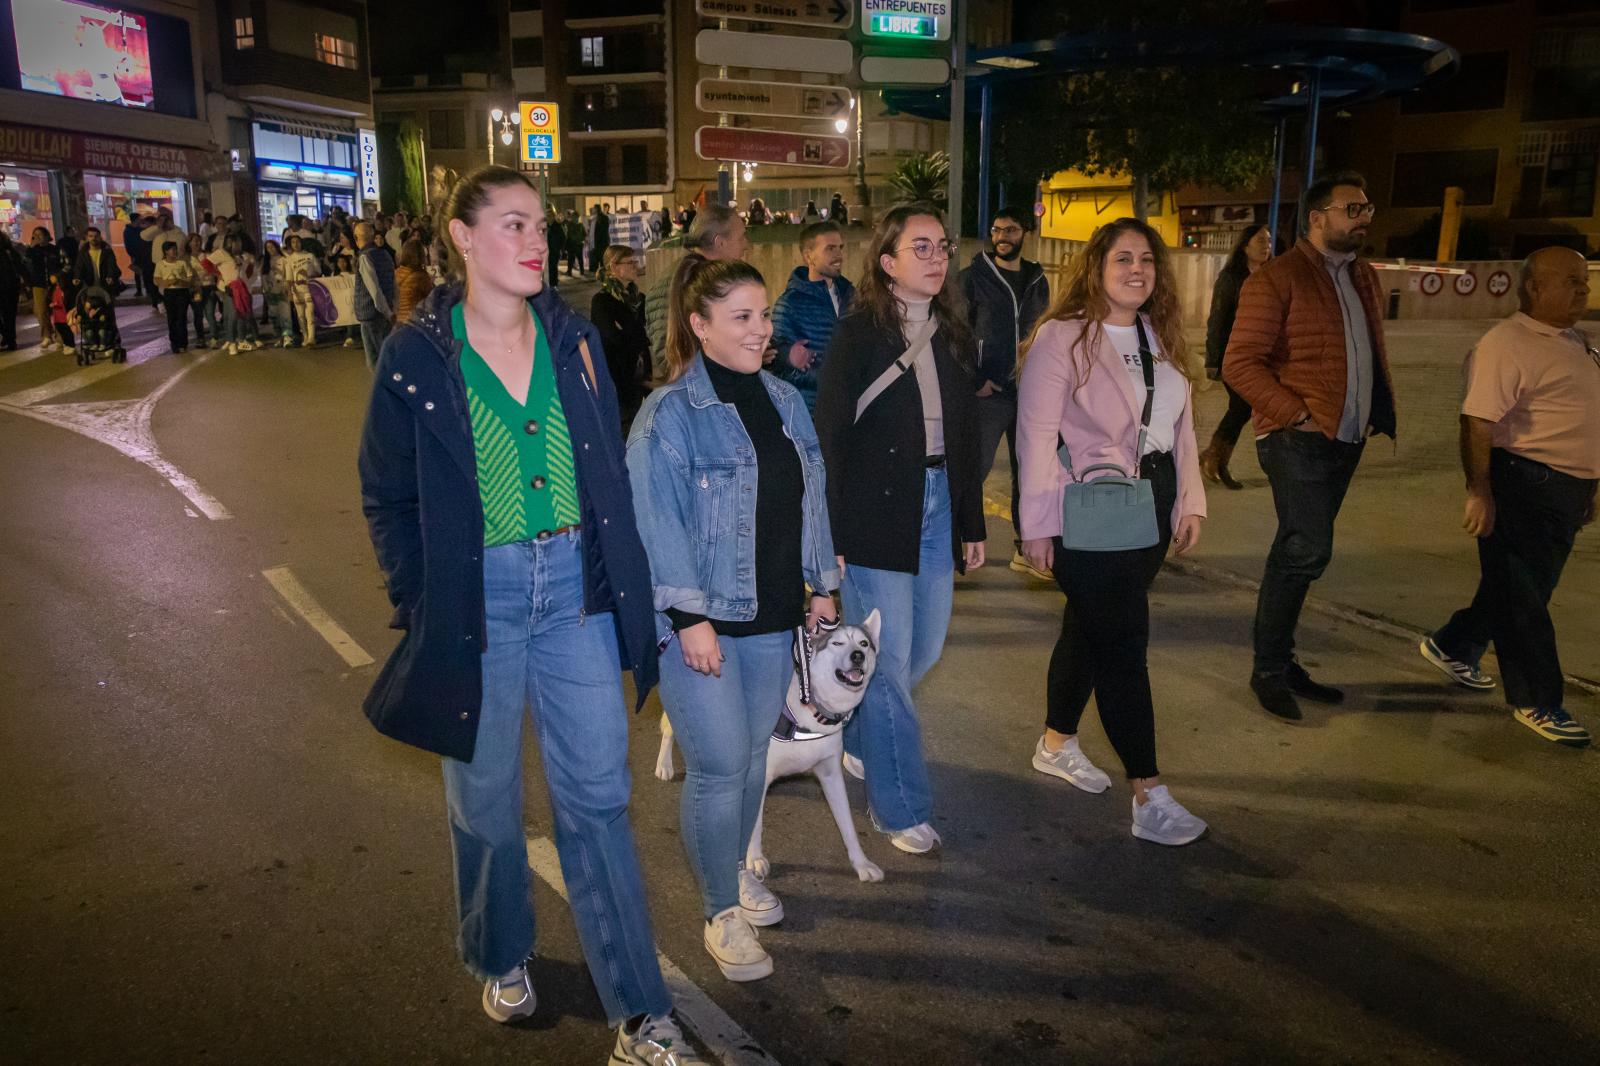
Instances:
[[[1294,658],[1299,613],[1310,583],[1333,559],[1333,523],[1365,447],[1299,429],[1280,429],[1256,442],[1278,512],[1278,533],[1256,597],[1258,674],[1282,674]]]

